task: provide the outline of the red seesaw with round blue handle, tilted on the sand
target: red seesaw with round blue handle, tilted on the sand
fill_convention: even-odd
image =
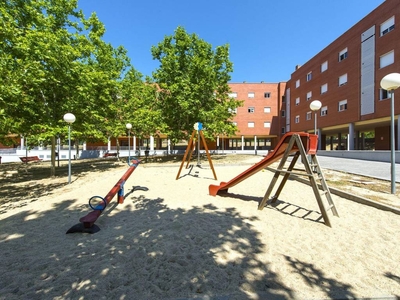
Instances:
[[[79,219],[78,224],[68,229],[67,233],[84,232],[84,233],[95,233],[100,228],[94,223],[100,217],[102,212],[105,210],[107,205],[111,202],[114,196],[118,193],[118,204],[124,203],[124,185],[129,176],[135,171],[139,165],[139,160],[132,160],[129,164],[129,169],[122,175],[121,179],[114,185],[114,187],[108,192],[103,198],[101,196],[93,196],[89,199],[89,206],[92,209],[90,213]]]

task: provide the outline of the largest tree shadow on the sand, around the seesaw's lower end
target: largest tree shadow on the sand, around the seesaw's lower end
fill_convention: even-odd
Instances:
[[[67,223],[84,214],[71,211],[73,200],[67,199],[50,211],[0,221],[0,264],[7,273],[0,294],[7,299],[293,298],[269,262],[260,260],[265,245],[251,219],[235,208],[170,209],[163,202],[144,195],[126,199],[124,210],[99,218],[101,231],[93,235],[65,235]]]

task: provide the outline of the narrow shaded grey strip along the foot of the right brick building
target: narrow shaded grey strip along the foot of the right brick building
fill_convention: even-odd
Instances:
[[[384,151],[369,151],[369,150],[333,150],[325,151],[318,150],[319,156],[330,156],[330,157],[341,157],[341,158],[352,158],[369,161],[382,161],[391,162],[391,153],[389,150]],[[396,163],[400,163],[400,151],[395,151]]]

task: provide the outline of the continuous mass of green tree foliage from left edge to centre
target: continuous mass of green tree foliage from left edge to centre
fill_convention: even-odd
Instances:
[[[103,41],[105,27],[85,19],[77,0],[0,2],[0,141],[10,134],[44,145],[72,138],[106,140],[126,134],[186,137],[196,122],[209,136],[234,133],[228,97],[232,72],[227,45],[211,45],[179,27],[151,51],[161,62],[154,79],[130,64],[123,47]],[[54,151],[53,151],[54,167]]]

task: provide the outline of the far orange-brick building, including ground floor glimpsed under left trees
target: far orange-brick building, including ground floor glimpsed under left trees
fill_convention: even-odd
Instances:
[[[285,103],[284,92],[286,83],[229,83],[230,97],[243,101],[243,106],[235,110],[233,122],[238,131],[233,136],[220,135],[214,141],[207,141],[210,150],[272,150],[278,143],[285,129],[285,115],[282,105]],[[118,138],[122,149],[128,146],[126,136]],[[108,145],[97,142],[88,143],[91,148],[114,149],[116,139],[110,139]],[[169,150],[168,137],[160,134],[147,139],[132,136],[133,149],[149,148],[153,150]],[[183,148],[182,148],[183,147]],[[184,149],[186,146],[181,146]],[[177,147],[175,146],[175,149]]]

